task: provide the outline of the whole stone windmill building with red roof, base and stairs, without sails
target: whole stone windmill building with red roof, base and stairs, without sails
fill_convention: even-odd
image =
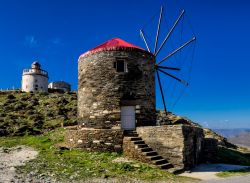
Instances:
[[[79,125],[66,131],[67,147],[123,151],[129,158],[174,171],[198,164],[206,145],[199,126],[163,113],[158,113],[157,121],[162,126],[156,126],[154,65],[151,53],[118,38],[81,55]],[[123,113],[126,107],[133,108],[132,115]],[[134,126],[125,128],[131,121]]]

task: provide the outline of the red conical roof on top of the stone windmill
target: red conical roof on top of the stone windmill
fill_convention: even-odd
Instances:
[[[96,53],[96,52],[100,52],[100,51],[114,51],[114,50],[142,50],[145,51],[144,49],[135,46],[131,43],[128,43],[120,38],[113,38],[110,39],[102,44],[100,44],[99,46],[92,48],[91,50],[83,53],[82,55],[80,55],[80,58],[91,54],[91,53]]]

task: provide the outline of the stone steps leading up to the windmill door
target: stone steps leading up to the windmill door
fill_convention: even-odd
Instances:
[[[162,156],[160,156],[156,151],[150,148],[141,137],[137,134],[136,131],[125,131],[124,132],[125,138],[129,140],[130,146],[134,146],[135,151],[133,153],[129,153],[130,157],[131,154],[132,158],[139,159],[145,163],[153,164],[160,169],[168,170],[173,168],[174,166],[165,160]],[[133,147],[130,147],[133,148]],[[130,151],[131,152],[131,151]],[[136,154],[137,153],[137,154]],[[125,153],[126,155],[126,153]]]

